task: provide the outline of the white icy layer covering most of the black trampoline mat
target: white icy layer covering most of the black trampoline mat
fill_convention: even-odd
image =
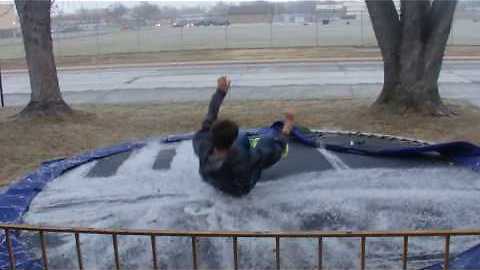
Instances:
[[[170,170],[155,171],[156,154],[176,147]],[[262,182],[247,196],[223,195],[198,175],[191,142],[151,143],[132,156],[115,176],[88,178],[94,163],[48,184],[33,201],[25,222],[98,228],[179,230],[396,230],[478,227],[480,180],[467,169],[449,167],[351,170],[335,154],[322,151],[335,170]],[[31,238],[35,241],[35,237]],[[478,239],[452,239],[460,252]],[[476,242],[477,241],[477,242]],[[81,238],[85,269],[112,269],[112,240]],[[240,239],[241,268],[274,268],[272,239]],[[35,245],[35,243],[33,243]],[[151,268],[148,237],[119,237],[123,268]],[[200,239],[203,268],[232,268],[230,239]],[[48,237],[51,269],[76,268],[72,235]],[[425,266],[442,253],[441,239],[410,240],[412,266]],[[367,241],[367,268],[400,268],[401,239]],[[162,268],[188,269],[188,238],[158,238]],[[325,239],[326,267],[357,268],[359,239]],[[311,269],[316,240],[282,240],[282,268]],[[434,256],[430,256],[434,254]]]

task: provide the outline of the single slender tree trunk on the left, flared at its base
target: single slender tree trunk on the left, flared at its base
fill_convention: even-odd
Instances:
[[[22,27],[25,57],[32,89],[21,117],[59,116],[72,113],[60,93],[53,55],[50,0],[15,0]]]

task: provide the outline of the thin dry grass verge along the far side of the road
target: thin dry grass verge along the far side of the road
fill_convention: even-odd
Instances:
[[[480,46],[449,47],[447,56],[480,57]],[[274,49],[208,49],[184,50],[147,53],[116,53],[93,56],[57,56],[58,67],[117,65],[117,64],[151,64],[197,61],[254,61],[278,59],[326,59],[352,57],[380,57],[376,48],[362,47],[300,47]],[[2,69],[25,68],[25,59],[3,59]]]

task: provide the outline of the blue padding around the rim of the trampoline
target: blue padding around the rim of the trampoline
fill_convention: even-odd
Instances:
[[[245,130],[250,135],[262,136],[272,132],[279,132],[283,127],[282,122],[275,122],[270,127]],[[292,136],[297,141],[312,147],[318,147],[316,134],[303,132],[304,129],[295,127]],[[184,140],[191,140],[193,133],[168,136],[162,140],[163,143],[174,143]],[[42,191],[45,185],[60,176],[67,170],[92,160],[127,152],[141,148],[145,142],[132,142],[120,144],[108,148],[96,149],[75,157],[46,161],[41,164],[35,172],[25,176],[20,181],[11,185],[8,190],[0,194],[0,223],[21,223],[23,214],[28,210],[31,201]],[[425,153],[437,153],[451,159],[455,163],[468,166],[480,171],[480,148],[467,142],[453,142],[426,146],[404,147],[389,150],[366,150],[358,146],[346,147],[342,145],[327,144],[324,147],[328,150],[346,152],[361,155],[408,157]],[[22,243],[18,232],[11,232],[11,240],[15,254],[17,269],[42,269],[39,259],[27,250],[25,243]],[[9,269],[9,259],[4,232],[0,232],[0,269]],[[442,264],[435,264],[425,269],[443,269]],[[450,269],[480,269],[480,245],[475,246],[457,257],[450,263]]]

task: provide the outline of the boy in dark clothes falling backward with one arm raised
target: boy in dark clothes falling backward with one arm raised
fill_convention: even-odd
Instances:
[[[225,193],[240,197],[255,187],[262,170],[281,159],[294,117],[292,113],[287,113],[281,132],[250,142],[245,134],[239,134],[235,122],[217,121],[230,83],[227,77],[217,80],[217,90],[210,100],[202,127],[193,138],[193,148],[200,162],[203,180]]]

